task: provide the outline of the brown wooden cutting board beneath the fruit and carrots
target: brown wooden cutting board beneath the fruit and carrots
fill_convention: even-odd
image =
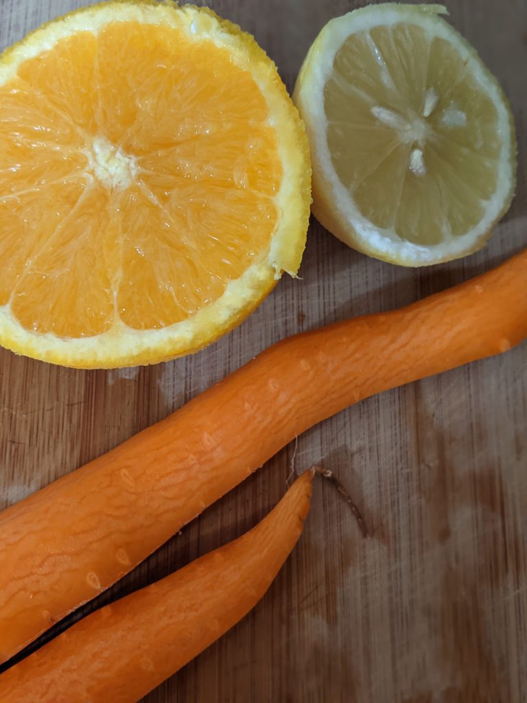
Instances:
[[[0,46],[83,4],[0,0]],[[210,4],[256,36],[289,88],[325,22],[358,6]],[[164,418],[282,337],[412,302],[527,245],[523,0],[446,4],[500,79],[519,137],[516,199],[486,250],[401,269],[349,250],[313,221],[301,280],[282,280],[240,328],[188,359],[77,371],[1,350],[0,508]],[[293,470],[322,462],[349,486],[370,538],[320,481],[301,543],[263,601],[145,703],[527,701],[526,359],[523,344],[315,427],[85,607],[159,579],[252,527]]]

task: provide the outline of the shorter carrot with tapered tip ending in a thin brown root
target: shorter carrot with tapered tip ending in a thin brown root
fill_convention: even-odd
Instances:
[[[244,617],[297,543],[314,471],[252,530],[101,608],[0,676],[2,703],[134,703]]]

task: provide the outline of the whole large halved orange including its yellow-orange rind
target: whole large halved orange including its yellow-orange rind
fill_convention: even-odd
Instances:
[[[304,250],[308,143],[212,11],[110,2],[0,57],[0,344],[82,368],[193,352]]]

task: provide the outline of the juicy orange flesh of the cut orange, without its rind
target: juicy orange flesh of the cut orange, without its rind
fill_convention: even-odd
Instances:
[[[0,305],[82,337],[214,302],[275,231],[267,118],[226,49],[174,28],[113,22],[27,60],[0,87]]]

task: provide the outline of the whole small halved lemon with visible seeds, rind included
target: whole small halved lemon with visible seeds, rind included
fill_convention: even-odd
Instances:
[[[330,21],[294,101],[313,160],[313,213],[371,256],[435,264],[481,247],[514,193],[507,99],[435,5]]]

